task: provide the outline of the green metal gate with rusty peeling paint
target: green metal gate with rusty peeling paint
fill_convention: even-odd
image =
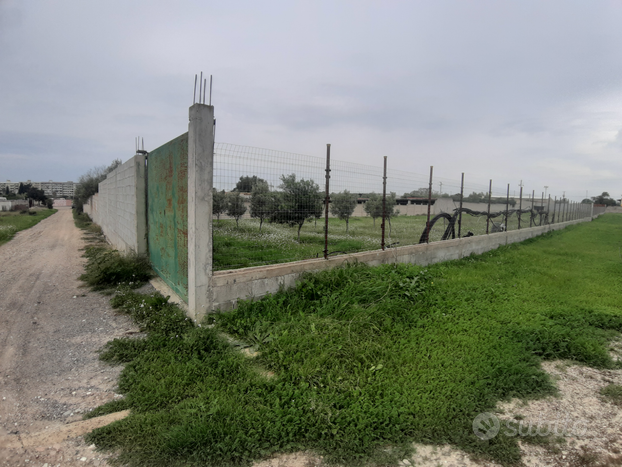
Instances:
[[[149,153],[149,259],[188,302],[188,133]]]

